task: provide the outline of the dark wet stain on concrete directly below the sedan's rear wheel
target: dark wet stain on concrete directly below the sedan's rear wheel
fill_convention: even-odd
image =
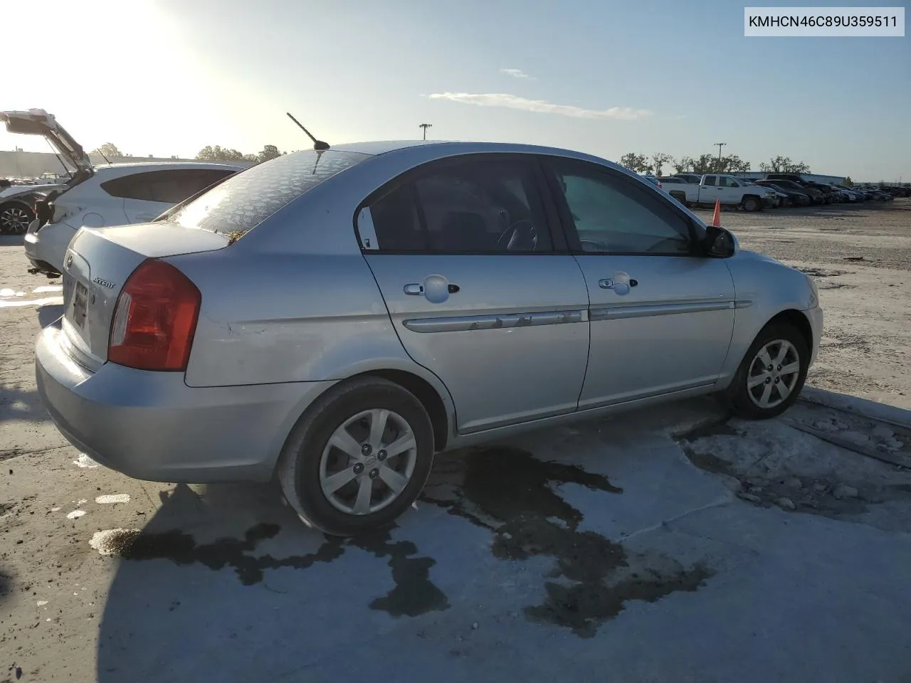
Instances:
[[[395,587],[386,596],[370,603],[371,609],[388,612],[392,617],[418,617],[431,611],[449,609],[449,600],[430,580],[433,557],[414,557],[417,546],[411,541],[395,541],[389,531],[354,538],[352,545],[375,557],[389,557]]]

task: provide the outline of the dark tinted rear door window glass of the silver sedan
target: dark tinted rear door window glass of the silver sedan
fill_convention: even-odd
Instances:
[[[370,206],[376,244],[364,249],[436,254],[551,250],[533,167],[523,160],[434,164]]]

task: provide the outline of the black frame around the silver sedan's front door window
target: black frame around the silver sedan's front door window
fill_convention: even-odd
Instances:
[[[686,213],[683,213],[678,207],[674,205],[673,201],[670,198],[670,195],[663,196],[664,193],[660,189],[656,191],[661,196],[656,197],[655,200],[661,206],[663,206],[664,209],[670,211],[671,214],[680,218],[686,225],[690,239],[689,252],[681,253],[680,251],[672,251],[642,253],[641,251],[593,252],[582,250],[581,240],[578,239],[578,233],[576,232],[576,221],[573,220],[572,213],[569,210],[569,205],[565,195],[563,194],[563,190],[559,188],[557,183],[555,168],[556,164],[563,163],[570,167],[575,166],[582,170],[589,171],[591,175],[603,176],[605,178],[608,178],[609,181],[617,182],[621,185],[626,186],[627,188],[633,189],[634,193],[637,191],[645,193],[650,191],[650,189],[640,188],[637,180],[634,178],[628,178],[625,174],[613,168],[600,166],[599,164],[592,163],[585,159],[549,156],[541,157],[540,161],[542,167],[544,168],[545,178],[548,182],[548,189],[550,191],[552,200],[558,208],[560,224],[565,233],[565,239],[568,244],[569,253],[573,256],[638,256],[643,258],[648,258],[650,256],[673,256],[683,259],[705,257],[706,254],[701,246],[701,242],[699,240],[699,230],[697,229],[696,224],[693,222],[690,216],[688,216]]]

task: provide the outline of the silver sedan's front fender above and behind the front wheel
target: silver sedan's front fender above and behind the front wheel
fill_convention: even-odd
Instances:
[[[737,292],[737,308],[720,387],[731,382],[766,323],[783,311],[807,311],[814,306],[810,282],[800,270],[753,251],[739,251],[727,265]]]

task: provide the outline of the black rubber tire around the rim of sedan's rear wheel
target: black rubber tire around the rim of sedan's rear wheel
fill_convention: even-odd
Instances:
[[[322,491],[323,450],[346,420],[377,409],[396,413],[411,428],[416,443],[414,470],[401,493],[382,509],[363,515],[346,513]],[[277,474],[282,493],[305,523],[329,535],[351,536],[391,525],[415,502],[433,463],[434,428],[424,405],[394,382],[363,377],[334,386],[303,413],[281,451]],[[362,468],[362,472],[366,471]],[[384,483],[378,485],[382,488]]]

